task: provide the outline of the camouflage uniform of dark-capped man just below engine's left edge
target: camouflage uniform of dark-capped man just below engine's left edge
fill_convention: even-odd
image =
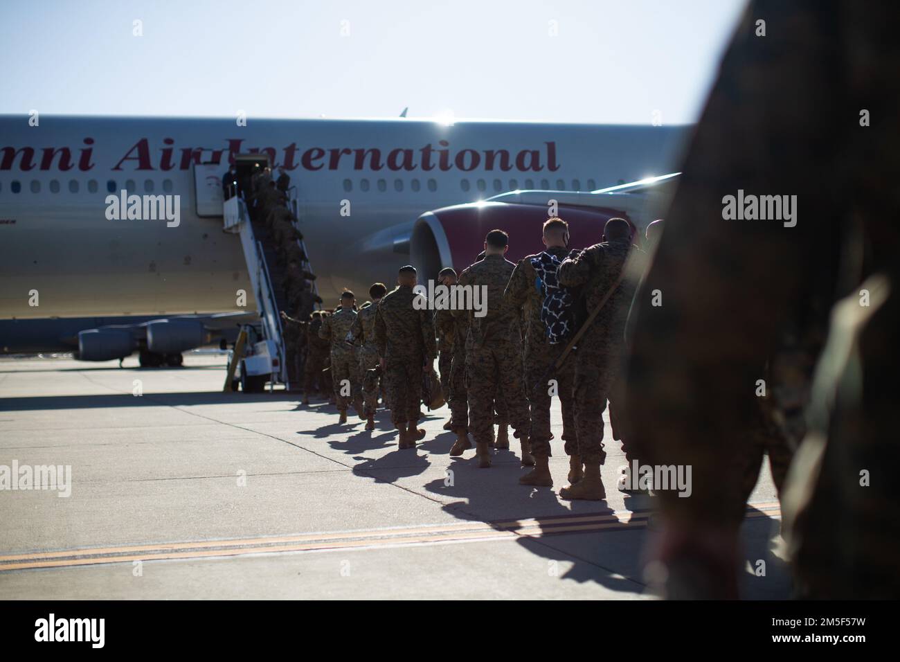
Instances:
[[[413,308],[416,295],[398,286],[384,295],[375,313],[375,345],[384,359],[384,388],[391,403],[391,419],[398,430],[419,421],[422,367],[437,355],[431,313]]]

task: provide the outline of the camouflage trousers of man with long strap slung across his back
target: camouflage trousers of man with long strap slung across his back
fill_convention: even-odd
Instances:
[[[575,364],[575,431],[578,454],[585,464],[603,464],[607,458],[603,449],[603,413],[617,387],[619,370],[618,352],[601,352],[590,346],[579,348]]]

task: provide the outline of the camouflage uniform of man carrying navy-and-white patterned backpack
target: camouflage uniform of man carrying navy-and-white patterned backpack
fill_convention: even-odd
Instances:
[[[563,259],[569,252],[561,248],[546,249],[547,253]],[[528,255],[519,260],[516,270],[509,278],[504,293],[507,303],[521,310],[525,319],[525,387],[531,406],[531,450],[535,455],[550,456],[550,379],[556,380],[556,391],[563,405],[563,440],[566,455],[578,453],[575,433],[574,380],[576,358],[566,358],[563,366],[555,373],[552,367],[565,349],[565,342],[551,344],[547,340],[547,329],[541,320],[543,295],[536,286],[537,273],[531,264],[536,255]]]

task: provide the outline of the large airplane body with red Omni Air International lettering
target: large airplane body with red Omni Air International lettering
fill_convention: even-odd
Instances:
[[[230,164],[282,167],[291,177],[293,209],[329,305],[345,288],[392,284],[397,268],[422,258],[422,249],[411,252],[413,230],[430,210],[531,189],[586,193],[671,172],[690,131],[410,117],[31,119],[0,115],[6,354],[35,349],[15,321],[114,317],[120,328],[139,329],[190,316],[165,330],[157,324],[175,351],[215,331],[207,323],[213,315],[254,311],[240,241],[222,226],[221,178]],[[125,204],[110,213],[131,195],[145,211],[148,198],[164,196],[177,220],[162,213],[129,220]],[[460,218],[453,234],[477,248],[484,228]],[[465,266],[435,255],[420,262],[426,277],[439,265]],[[68,339],[71,331],[69,324]],[[91,359],[84,354],[77,358]]]

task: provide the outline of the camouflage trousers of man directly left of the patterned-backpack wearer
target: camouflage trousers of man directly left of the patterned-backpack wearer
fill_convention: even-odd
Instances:
[[[502,403],[498,407],[501,421],[508,416],[516,436],[527,436],[531,421],[523,384],[521,345],[509,340],[473,343],[465,349],[465,367],[469,427],[475,442],[493,440],[495,400]]]

